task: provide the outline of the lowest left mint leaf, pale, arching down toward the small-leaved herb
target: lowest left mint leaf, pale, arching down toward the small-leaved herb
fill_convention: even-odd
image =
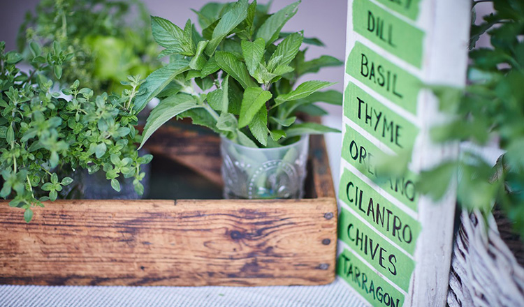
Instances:
[[[160,126],[166,123],[166,121],[182,112],[196,107],[202,106],[198,105],[192,96],[186,94],[177,94],[162,100],[159,105],[151,111],[150,116],[147,117],[144,126],[143,139],[138,149],[142,148],[154,131],[160,128]]]

